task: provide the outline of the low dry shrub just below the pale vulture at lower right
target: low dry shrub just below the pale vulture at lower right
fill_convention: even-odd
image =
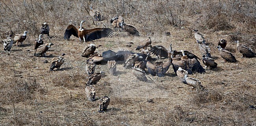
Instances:
[[[200,91],[197,90],[193,94],[193,102],[196,104],[208,103],[214,101],[220,101],[223,99],[223,95],[217,89],[210,88],[208,90]]]

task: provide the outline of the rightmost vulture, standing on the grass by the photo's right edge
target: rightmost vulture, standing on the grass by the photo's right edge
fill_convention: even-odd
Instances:
[[[245,46],[245,45],[242,45],[242,44],[239,44],[239,41],[236,41],[236,47],[237,47],[237,50],[242,53],[242,57],[246,57],[246,58],[253,58],[253,57],[256,57],[256,53],[254,53],[252,51],[252,49],[250,49],[249,47]]]

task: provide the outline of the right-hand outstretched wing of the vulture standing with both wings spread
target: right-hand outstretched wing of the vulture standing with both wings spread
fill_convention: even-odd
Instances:
[[[110,28],[94,28],[85,30],[86,41],[92,41],[104,37],[112,37],[114,31]]]

